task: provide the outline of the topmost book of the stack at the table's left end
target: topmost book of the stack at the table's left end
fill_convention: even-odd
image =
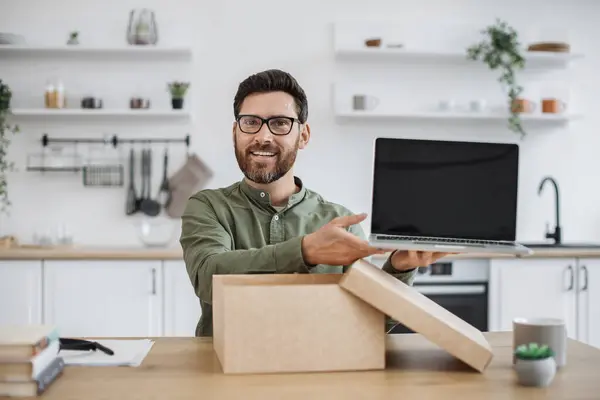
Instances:
[[[58,339],[58,329],[50,325],[0,326],[0,362],[28,361]]]

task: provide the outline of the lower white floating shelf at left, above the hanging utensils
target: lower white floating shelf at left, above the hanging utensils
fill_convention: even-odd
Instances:
[[[46,109],[15,108],[15,117],[132,117],[132,118],[189,118],[187,110],[130,110],[130,109]]]

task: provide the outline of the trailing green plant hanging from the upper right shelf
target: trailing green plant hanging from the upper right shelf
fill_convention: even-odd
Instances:
[[[525,136],[519,116],[517,98],[523,88],[517,83],[516,73],[525,67],[525,57],[521,54],[518,34],[506,22],[497,19],[496,23],[481,31],[485,36],[480,42],[467,48],[467,58],[482,61],[493,71],[499,71],[498,81],[508,96],[509,129]]]

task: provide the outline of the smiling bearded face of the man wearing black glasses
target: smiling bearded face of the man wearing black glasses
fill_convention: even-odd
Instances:
[[[261,118],[298,118],[294,98],[285,92],[252,94],[245,98],[240,115]],[[281,123],[272,122],[271,128],[279,132]],[[257,133],[245,133],[260,126],[260,121],[248,119],[240,129],[233,125],[233,141],[238,165],[246,178],[259,184],[274,182],[285,175],[294,165],[298,149],[308,142],[309,129],[294,121],[287,135],[273,134],[266,123]]]

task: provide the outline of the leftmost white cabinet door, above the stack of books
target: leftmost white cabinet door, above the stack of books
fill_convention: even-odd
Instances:
[[[42,262],[0,261],[0,325],[42,322]]]

